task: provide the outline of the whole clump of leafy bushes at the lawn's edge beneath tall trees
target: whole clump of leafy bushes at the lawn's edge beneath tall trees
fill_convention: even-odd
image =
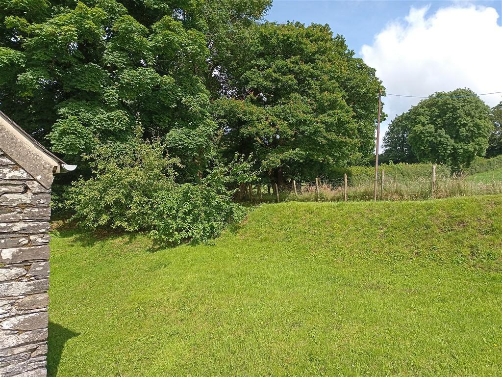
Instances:
[[[242,218],[232,203],[235,186],[249,180],[250,162],[235,159],[216,165],[197,183],[176,182],[179,160],[165,156],[163,146],[137,140],[102,145],[87,156],[95,177],[76,181],[67,194],[73,219],[91,227],[150,231],[163,243],[205,242],[226,223]]]

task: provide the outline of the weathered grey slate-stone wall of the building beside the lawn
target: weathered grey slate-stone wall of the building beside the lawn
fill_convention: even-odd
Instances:
[[[0,376],[46,375],[50,190],[0,150]]]

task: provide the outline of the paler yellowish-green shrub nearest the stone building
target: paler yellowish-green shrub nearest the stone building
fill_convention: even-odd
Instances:
[[[155,196],[175,185],[174,165],[159,142],[137,140],[98,146],[85,156],[94,177],[79,179],[67,194],[73,219],[81,225],[126,231],[148,229]]]

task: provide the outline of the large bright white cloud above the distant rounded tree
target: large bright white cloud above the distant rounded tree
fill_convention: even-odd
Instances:
[[[476,93],[502,91],[502,27],[494,8],[452,5],[428,15],[411,8],[404,20],[388,24],[364,45],[361,55],[376,69],[388,93],[429,96],[468,87]],[[502,95],[481,97],[489,106]],[[420,99],[384,98],[392,120]],[[386,122],[388,123],[388,122]],[[383,125],[383,135],[386,131]]]

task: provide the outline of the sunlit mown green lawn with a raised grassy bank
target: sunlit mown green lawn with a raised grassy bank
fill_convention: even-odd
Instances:
[[[61,230],[49,375],[500,376],[502,196],[286,203],[214,245]]]

